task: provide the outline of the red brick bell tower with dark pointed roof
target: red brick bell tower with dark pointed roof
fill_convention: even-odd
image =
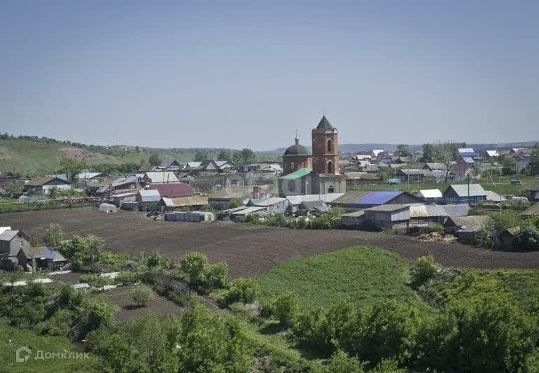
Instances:
[[[313,173],[318,175],[339,175],[338,131],[329,120],[322,117],[312,130]]]

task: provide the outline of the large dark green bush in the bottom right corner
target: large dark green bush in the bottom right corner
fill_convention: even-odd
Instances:
[[[444,371],[518,372],[537,332],[529,314],[505,300],[455,302],[426,328],[426,365]]]

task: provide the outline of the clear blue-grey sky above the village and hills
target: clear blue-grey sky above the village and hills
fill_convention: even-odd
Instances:
[[[0,1],[0,132],[100,145],[539,139],[539,1]]]

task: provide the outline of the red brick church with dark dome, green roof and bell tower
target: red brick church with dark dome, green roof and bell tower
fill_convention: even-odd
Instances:
[[[322,117],[311,132],[312,154],[295,138],[283,154],[279,195],[318,195],[346,192],[346,180],[339,173],[338,131]]]

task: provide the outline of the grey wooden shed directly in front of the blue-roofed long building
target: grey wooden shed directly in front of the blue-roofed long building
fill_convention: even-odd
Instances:
[[[365,209],[365,223],[378,228],[406,232],[408,228],[409,206],[389,204]]]

